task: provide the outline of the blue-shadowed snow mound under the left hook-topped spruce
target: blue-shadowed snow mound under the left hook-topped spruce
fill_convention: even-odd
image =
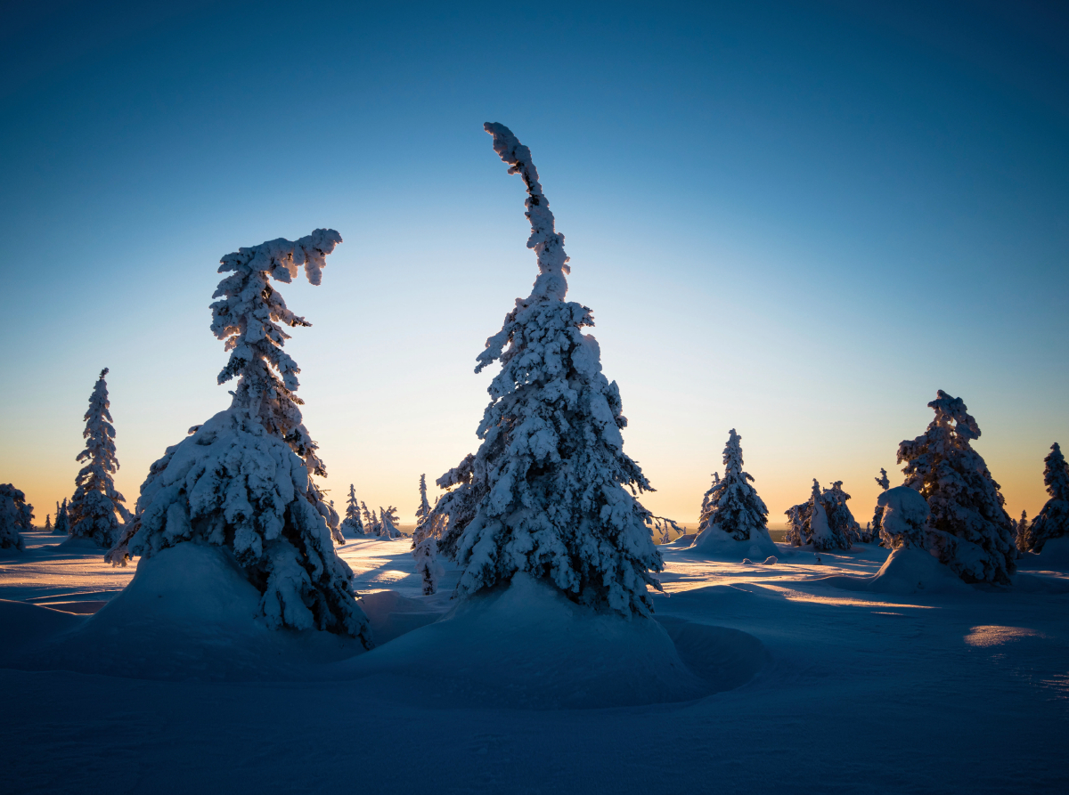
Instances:
[[[315,664],[363,651],[330,633],[268,629],[257,618],[259,604],[228,551],[177,544],[142,559],[97,613],[69,617],[63,632],[13,650],[4,664],[151,680],[314,679],[322,668]],[[10,618],[0,612],[0,632]]]

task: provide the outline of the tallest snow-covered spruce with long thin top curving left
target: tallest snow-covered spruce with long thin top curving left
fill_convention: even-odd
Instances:
[[[472,594],[529,573],[571,599],[622,614],[649,614],[647,586],[663,567],[635,498],[650,490],[623,452],[620,392],[601,372],[601,352],[583,328],[590,310],[566,301],[564,237],[530,150],[487,123],[494,151],[527,188],[527,247],[538,255],[531,294],[516,299],[486,341],[476,372],[501,361],[477,434],[478,452],[438,484],[455,484],[435,510],[448,516],[443,545],[462,568],[458,592]]]

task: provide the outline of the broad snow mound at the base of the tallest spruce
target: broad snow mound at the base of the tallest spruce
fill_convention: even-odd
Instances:
[[[686,627],[671,632],[681,651],[657,621],[597,612],[516,574],[507,589],[467,597],[440,621],[338,668],[400,685],[423,705],[557,710],[688,701],[737,687],[763,665],[752,636],[679,623]]]

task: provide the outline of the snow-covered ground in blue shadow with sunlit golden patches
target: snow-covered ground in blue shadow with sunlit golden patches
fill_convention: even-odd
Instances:
[[[600,692],[602,672],[620,672],[611,658],[576,652],[586,648],[578,613],[559,619],[571,627],[564,640],[540,640],[527,662],[510,656],[509,632],[528,632],[530,610],[505,613],[517,617],[511,627],[493,623],[492,610],[447,625],[437,620],[452,607],[456,573],[424,597],[408,543],[371,540],[340,554],[366,594],[374,651],[320,644],[298,660],[303,641],[290,633],[245,649],[263,655],[267,674],[246,666],[223,676],[211,655],[189,668],[157,666],[152,650],[124,643],[113,620],[95,646],[68,644],[81,658],[48,664],[26,650],[43,637],[79,637],[93,620],[86,613],[122,593],[137,568],[111,568],[103,550],[61,549],[57,536],[25,537],[26,552],[0,558],[4,792],[1069,791],[1069,576],[1040,571],[1038,558],[1022,561],[1008,591],[887,595],[847,579],[876,574],[886,560],[878,547],[821,554],[818,563],[778,545],[768,565],[661,547],[657,620],[704,683],[695,687],[717,690],[695,696],[686,683],[645,681]],[[568,612],[544,594],[514,593],[540,611]],[[127,611],[143,604],[135,596],[124,596]],[[64,611],[12,604],[26,602]],[[493,637],[478,666],[443,641],[474,642],[480,627]],[[653,648],[661,637],[640,642]],[[165,640],[190,655],[203,641]],[[72,670],[55,670],[61,658]],[[114,674],[127,659],[140,679],[86,672]],[[659,692],[686,700],[651,703]],[[574,708],[586,703],[631,705]]]

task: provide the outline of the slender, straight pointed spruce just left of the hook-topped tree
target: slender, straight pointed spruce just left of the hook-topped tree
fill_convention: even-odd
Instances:
[[[78,461],[86,465],[75,478],[74,497],[68,506],[71,537],[87,539],[102,547],[110,547],[119,536],[121,523],[129,518],[123,504],[126,498],[115,490],[114,473],[119,470],[115,458],[115,428],[111,424],[111,403],[108,401],[108,383],[100,377],[89,396],[86,411],[86,449],[78,453]]]

